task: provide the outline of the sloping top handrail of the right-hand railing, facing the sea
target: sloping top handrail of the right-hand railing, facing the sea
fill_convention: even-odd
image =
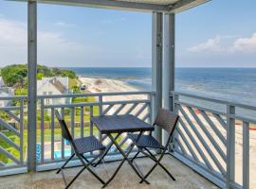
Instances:
[[[236,101],[229,101],[229,100],[225,100],[225,99],[217,99],[214,97],[208,97],[205,95],[199,95],[199,94],[192,94],[189,92],[180,92],[180,91],[171,91],[170,92],[170,96],[174,96],[174,94],[178,94],[178,95],[183,95],[183,96],[187,96],[187,97],[192,97],[192,98],[196,98],[196,99],[200,99],[200,100],[206,100],[206,101],[210,101],[213,103],[217,103],[217,104],[223,104],[223,105],[227,105],[227,106],[234,106],[237,108],[242,108],[242,109],[247,109],[250,111],[256,111],[256,106],[252,106],[252,105],[248,105],[246,103],[240,103],[240,102],[236,102]]]

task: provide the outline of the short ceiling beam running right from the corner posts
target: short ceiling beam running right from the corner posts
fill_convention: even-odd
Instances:
[[[170,7],[168,11],[172,13],[178,13],[187,9],[192,9],[209,1],[210,0],[180,0],[175,3],[174,6]]]

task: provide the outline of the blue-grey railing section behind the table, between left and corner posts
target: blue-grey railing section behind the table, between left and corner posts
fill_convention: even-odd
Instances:
[[[134,97],[131,97],[133,96]],[[125,92],[125,93],[99,93],[99,94],[64,94],[64,95],[41,95],[38,96],[40,102],[40,127],[38,130],[37,147],[40,151],[38,155],[38,170],[45,170],[44,165],[48,163],[62,162],[70,156],[71,149],[61,137],[61,131],[58,121],[55,118],[54,111],[59,110],[64,117],[71,135],[83,137],[88,135],[97,135],[102,143],[107,144],[106,136],[101,135],[96,129],[90,117],[98,115],[117,115],[134,114],[143,121],[151,121],[151,95],[152,92]],[[115,96],[129,96],[125,99]],[[60,98],[88,98],[94,97],[90,102],[70,102],[60,103]],[[46,100],[47,99],[47,100]],[[52,100],[58,99],[58,103]],[[47,102],[52,102],[47,104]],[[46,120],[48,114],[48,120]],[[48,124],[48,125],[47,125]],[[123,134],[119,141],[121,146],[126,147],[128,138]],[[127,146],[128,147],[128,146]],[[112,149],[110,155],[117,154],[116,149]],[[91,156],[93,154],[88,154]],[[48,167],[48,166],[46,166]]]

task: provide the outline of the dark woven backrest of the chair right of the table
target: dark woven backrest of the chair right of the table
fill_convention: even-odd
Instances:
[[[154,125],[161,129],[165,129],[169,134],[174,132],[179,116],[165,109],[160,109],[156,115]]]

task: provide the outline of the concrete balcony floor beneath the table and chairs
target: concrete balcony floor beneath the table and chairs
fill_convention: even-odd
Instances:
[[[153,162],[147,158],[137,159],[137,165],[143,173],[151,168]],[[209,180],[202,178],[197,173],[193,172],[191,168],[180,163],[171,156],[166,155],[162,163],[173,173],[176,181],[173,181],[169,176],[160,168],[156,167],[155,171],[148,178],[151,182],[150,185],[145,183],[139,184],[139,178],[128,165],[124,165],[119,170],[117,177],[106,187],[111,189],[216,189],[218,188]],[[112,174],[119,162],[105,163],[109,174]],[[67,180],[70,180],[81,167],[65,169],[64,173]],[[100,164],[96,171],[103,180],[107,180],[107,174],[104,166]],[[101,183],[96,180],[88,171],[84,171],[82,175],[76,180],[70,188],[82,189],[97,189],[101,188]],[[46,188],[46,189],[59,189],[64,188],[64,181],[61,174],[56,175],[55,171],[39,172],[36,174],[21,174],[16,176],[8,176],[0,178],[0,188]]]

